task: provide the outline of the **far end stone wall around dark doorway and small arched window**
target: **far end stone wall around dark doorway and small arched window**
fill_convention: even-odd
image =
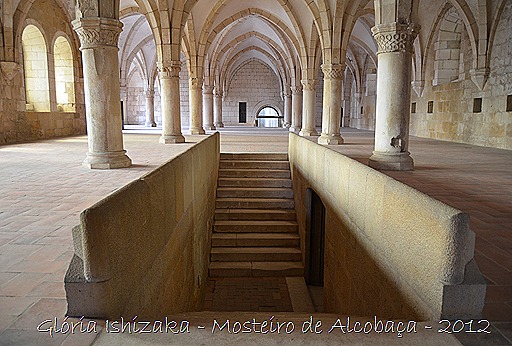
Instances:
[[[238,122],[238,103],[247,102],[247,123]],[[233,76],[229,90],[224,91],[222,121],[224,125],[252,126],[260,107],[269,105],[284,116],[279,80],[275,73],[258,61],[241,67]]]

